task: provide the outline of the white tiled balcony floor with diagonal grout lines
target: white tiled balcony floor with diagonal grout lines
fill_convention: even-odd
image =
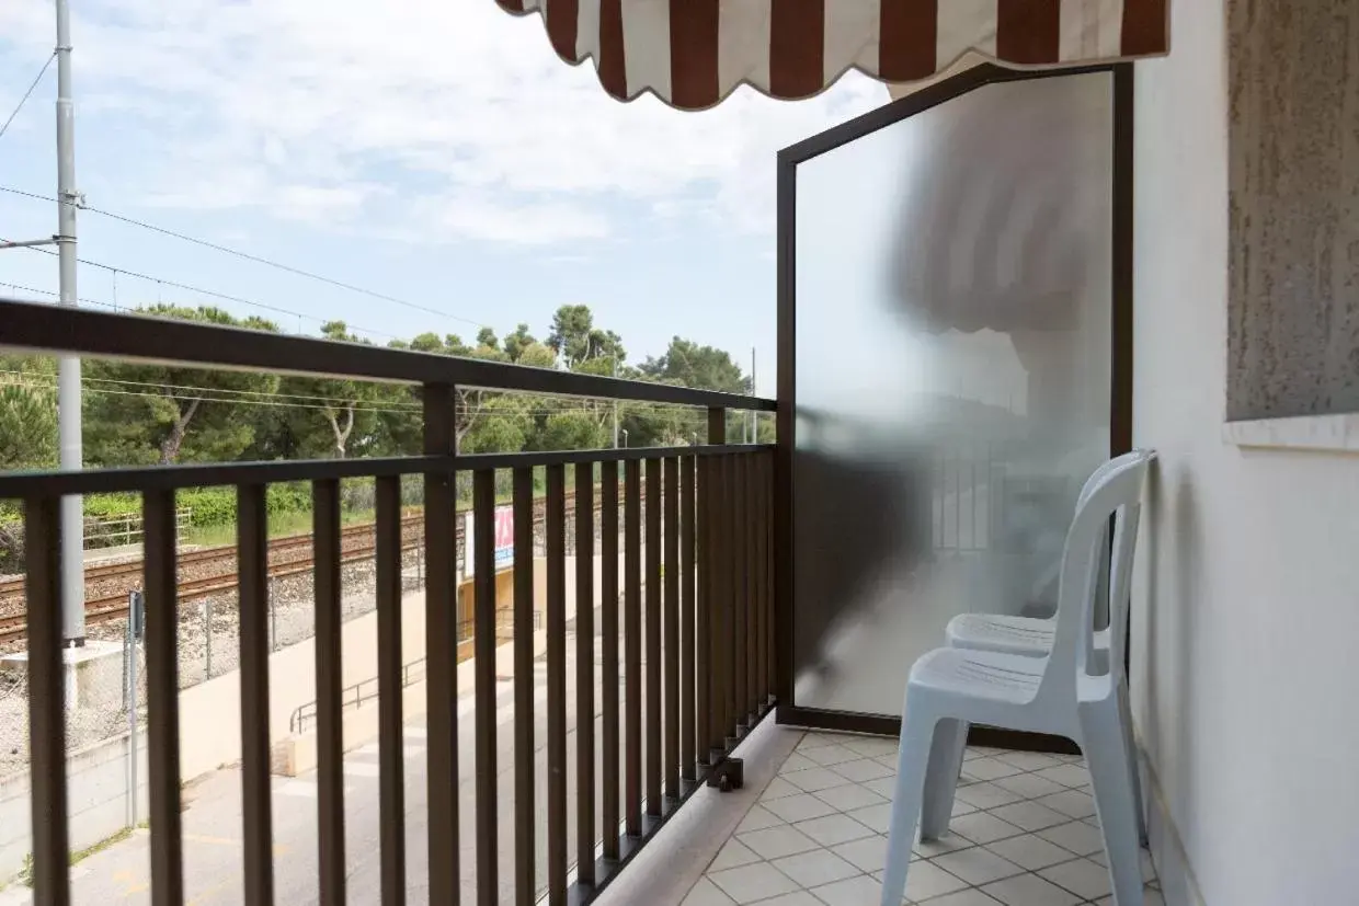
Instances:
[[[875,906],[893,740],[806,733],[685,906]],[[1112,905],[1079,757],[969,748],[950,834],[916,844],[906,901],[924,906]],[[1163,906],[1143,852],[1146,906]]]

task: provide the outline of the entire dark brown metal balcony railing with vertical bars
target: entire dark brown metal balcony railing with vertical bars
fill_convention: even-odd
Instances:
[[[245,902],[275,902],[269,706],[269,575],[265,490],[307,481],[313,492],[315,595],[315,728],[318,736],[318,871],[322,903],[345,899],[342,774],[340,481],[375,482],[381,888],[383,903],[406,890],[402,782],[401,477],[424,477],[425,683],[428,690],[428,891],[459,902],[474,875],[476,901],[500,896],[506,841],[499,830],[496,772],[477,770],[474,869],[459,864],[457,588],[454,473],[473,475],[474,618],[496,625],[493,509],[496,473],[512,475],[514,792],[510,846],[515,902],[531,903],[545,877],[548,902],[588,902],[707,781],[739,782],[728,758],[769,709],[773,689],[773,452],[727,446],[726,410],[775,403],[731,394],[617,380],[254,333],[202,323],[0,302],[0,346],[23,352],[144,359],[201,368],[348,376],[423,386],[421,455],[382,459],[159,466],[0,475],[0,499],[23,501],[27,532],[29,717],[31,735],[33,887],[35,902],[69,902],[67,751],[61,655],[64,496],[135,492],[143,500],[149,733],[151,890],[155,903],[185,899],[177,678],[177,519],[179,489],[234,485],[238,496],[241,740]],[[708,446],[459,455],[455,388],[648,401],[708,412]],[[591,562],[594,520],[605,568],[575,570],[576,712],[594,714],[594,611],[602,636],[601,739],[575,732],[575,812],[567,796],[567,467],[575,466],[576,562]],[[534,519],[533,470],[546,473],[546,865],[534,845]],[[593,503],[598,471],[599,507]],[[621,478],[621,481],[620,481]],[[620,494],[622,524],[620,527]],[[643,504],[644,508],[643,508]],[[620,550],[621,546],[621,550]],[[621,562],[622,569],[617,569]],[[621,576],[618,575],[621,572]],[[621,619],[621,632],[620,632]],[[495,632],[474,633],[476,763],[496,759]],[[620,652],[620,638],[622,651]],[[643,674],[643,662],[650,667]],[[621,678],[620,678],[621,668]],[[620,679],[622,701],[620,702]],[[644,687],[643,687],[644,681]],[[646,746],[643,747],[643,739]],[[595,747],[599,770],[595,772]],[[643,755],[643,753],[646,753]],[[621,795],[620,795],[621,793]],[[598,804],[601,826],[595,826]],[[575,853],[568,852],[568,822]],[[597,846],[602,857],[597,860]],[[568,890],[571,863],[576,880]]]

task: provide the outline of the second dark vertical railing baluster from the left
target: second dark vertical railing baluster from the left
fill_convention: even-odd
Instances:
[[[171,906],[183,902],[183,837],[181,833],[183,805],[179,792],[179,613],[174,500],[173,490],[148,490],[141,500],[141,581],[147,621],[147,767],[149,769],[147,786],[151,799],[151,902],[154,906]],[[30,531],[30,545],[33,545],[33,538]],[[30,560],[30,565],[31,562]],[[31,577],[29,583],[29,588],[33,590]],[[30,687],[30,694],[37,695],[37,687]],[[61,701],[60,695],[54,701]],[[34,735],[34,740],[37,740],[37,735]],[[34,792],[34,804],[37,805],[37,791]]]

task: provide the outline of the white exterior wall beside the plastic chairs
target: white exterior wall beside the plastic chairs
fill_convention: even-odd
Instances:
[[[1208,906],[1356,902],[1359,456],[1223,439],[1224,3],[1173,3],[1137,64],[1133,436],[1161,462],[1133,587],[1132,683],[1158,861]],[[1162,865],[1165,869],[1166,867]],[[1177,872],[1171,872],[1177,873]],[[1197,896],[1167,877],[1167,903]]]

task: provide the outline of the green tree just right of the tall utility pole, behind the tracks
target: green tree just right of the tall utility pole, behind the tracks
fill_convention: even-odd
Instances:
[[[277,330],[261,318],[234,318],[213,307],[155,306],[141,311]],[[258,424],[254,417],[242,417],[241,406],[277,388],[277,376],[258,372],[92,360],[83,387],[86,460],[99,466],[235,460],[251,447]]]

